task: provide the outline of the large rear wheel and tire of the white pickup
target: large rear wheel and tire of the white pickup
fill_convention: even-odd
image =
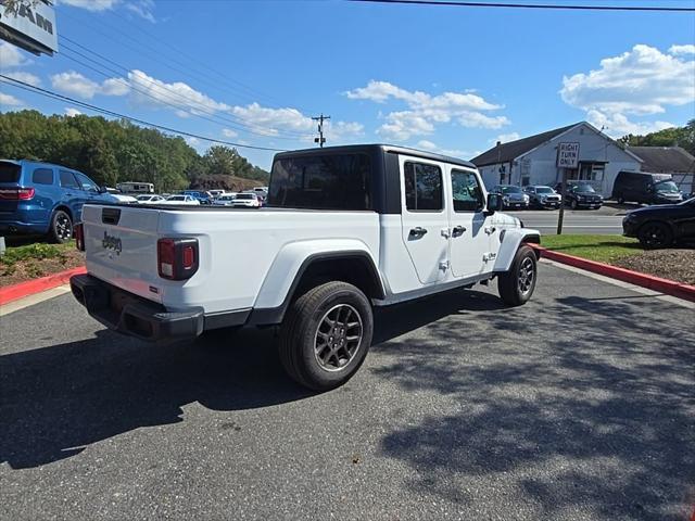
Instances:
[[[358,326],[354,326],[356,322]],[[285,316],[280,361],[301,385],[328,391],[345,383],[359,369],[372,332],[371,305],[365,294],[346,282],[326,282],[294,301]]]

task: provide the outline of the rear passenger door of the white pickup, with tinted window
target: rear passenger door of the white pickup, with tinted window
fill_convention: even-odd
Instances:
[[[448,269],[448,215],[442,165],[401,155],[402,237],[419,281],[443,280]]]

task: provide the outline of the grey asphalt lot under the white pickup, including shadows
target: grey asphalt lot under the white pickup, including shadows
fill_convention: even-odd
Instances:
[[[345,386],[271,330],[152,346],[70,294],[0,318],[3,519],[683,520],[693,308],[542,264],[379,313]]]

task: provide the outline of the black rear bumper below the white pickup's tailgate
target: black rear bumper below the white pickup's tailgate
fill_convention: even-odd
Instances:
[[[186,340],[205,328],[202,307],[169,312],[164,306],[119,290],[90,275],[70,279],[73,295],[89,315],[109,329],[152,342]]]

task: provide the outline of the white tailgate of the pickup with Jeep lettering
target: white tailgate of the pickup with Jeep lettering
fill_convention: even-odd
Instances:
[[[156,268],[160,212],[114,205],[83,208],[90,275],[154,302],[162,302]]]

